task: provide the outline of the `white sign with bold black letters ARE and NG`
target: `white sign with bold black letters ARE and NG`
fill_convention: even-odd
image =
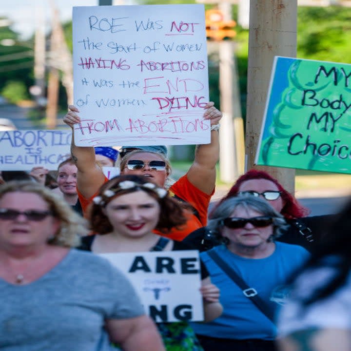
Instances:
[[[156,322],[202,321],[198,251],[101,254],[131,281]]]

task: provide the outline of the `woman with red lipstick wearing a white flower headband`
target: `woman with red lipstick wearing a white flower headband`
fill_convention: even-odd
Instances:
[[[171,228],[186,224],[188,211],[168,192],[141,176],[117,176],[105,183],[93,199],[89,214],[91,229],[98,233],[82,240],[82,249],[96,254],[187,250],[167,235]],[[205,271],[202,286],[205,321],[222,313],[219,291]],[[201,351],[187,322],[157,323],[168,351]]]

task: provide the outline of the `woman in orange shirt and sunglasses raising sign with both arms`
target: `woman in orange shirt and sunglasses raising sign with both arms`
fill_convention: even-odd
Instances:
[[[63,121],[73,129],[80,121],[77,114],[79,111],[75,106],[69,106],[69,110]],[[186,226],[181,230],[174,228],[169,234],[174,240],[181,241],[207,223],[207,210],[215,191],[215,165],[219,157],[218,122],[221,117],[222,113],[215,108],[213,102],[205,106],[204,119],[211,122],[211,142],[196,147],[195,159],[189,171],[169,189],[172,195],[193,207],[193,213],[188,215]],[[96,164],[93,147],[77,147],[72,139],[71,152],[78,168],[77,188],[84,211],[97,195],[100,186],[108,179]],[[148,181],[163,188],[171,174],[171,166],[161,153],[137,150],[121,160],[121,174],[145,176]]]

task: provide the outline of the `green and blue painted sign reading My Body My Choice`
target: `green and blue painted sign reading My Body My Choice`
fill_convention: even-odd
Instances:
[[[351,65],[275,57],[256,164],[351,174]]]

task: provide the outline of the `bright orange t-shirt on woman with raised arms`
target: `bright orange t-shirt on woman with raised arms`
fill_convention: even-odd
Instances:
[[[105,178],[104,183],[108,181],[108,178]],[[158,235],[162,235],[168,237],[173,240],[181,241],[190,233],[194,232],[196,229],[206,226],[207,224],[207,211],[210,204],[211,196],[215,192],[212,192],[211,195],[207,195],[197,189],[189,180],[187,175],[182,176],[179,178],[169,189],[170,193],[180,197],[182,200],[188,202],[190,205],[194,207],[197,211],[198,217],[194,214],[189,214],[189,219],[182,226],[181,229],[172,229],[169,234],[162,234],[158,231],[154,231]],[[94,194],[90,198],[83,197],[78,189],[78,198],[83,210],[84,216],[86,216],[87,207],[93,201],[93,198],[97,195]]]

